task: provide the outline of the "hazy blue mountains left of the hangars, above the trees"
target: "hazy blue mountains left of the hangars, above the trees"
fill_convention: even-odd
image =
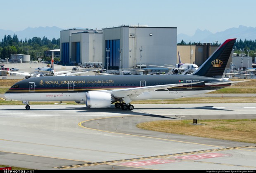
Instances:
[[[56,26],[52,27],[37,27],[37,28],[26,28],[21,31],[14,32],[12,30],[2,30],[0,29],[0,40],[4,38],[6,35],[11,35],[13,37],[16,34],[19,40],[25,41],[25,38],[32,39],[33,37],[47,37],[49,40],[55,38],[56,40],[59,38],[60,31],[63,30],[62,28],[58,28]]]

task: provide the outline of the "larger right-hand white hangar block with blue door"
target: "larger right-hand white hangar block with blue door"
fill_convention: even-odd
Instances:
[[[112,70],[118,70],[120,64],[121,68],[133,68],[141,64],[176,63],[177,28],[123,25],[103,28],[102,33],[104,68],[107,68],[108,54]]]

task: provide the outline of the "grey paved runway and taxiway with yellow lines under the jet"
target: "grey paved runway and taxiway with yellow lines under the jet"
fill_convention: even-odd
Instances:
[[[0,163],[42,170],[255,170],[256,144],[138,129],[175,119],[255,119],[255,103],[0,105]]]

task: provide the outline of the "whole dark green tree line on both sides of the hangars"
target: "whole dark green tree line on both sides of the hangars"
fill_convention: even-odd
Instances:
[[[197,45],[200,44],[197,42],[186,43],[183,40],[177,45]],[[212,43],[213,46],[219,46],[220,43]],[[38,59],[42,57],[46,59],[45,52],[52,49],[59,49],[59,38],[56,40],[53,38],[49,40],[47,37],[33,37],[32,39],[19,40],[16,34],[5,35],[2,41],[0,42],[0,58],[6,59],[10,58],[11,54],[27,54],[31,56],[31,59]],[[247,53],[249,51],[249,56],[255,57],[256,53],[256,40],[237,40],[234,45],[233,53]]]

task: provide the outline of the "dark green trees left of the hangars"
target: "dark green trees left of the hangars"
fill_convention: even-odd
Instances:
[[[59,49],[59,39],[49,40],[47,37],[33,37],[32,39],[19,40],[14,34],[5,35],[0,42],[0,58],[11,58],[11,54],[30,55],[31,59],[37,60],[39,57],[46,59],[45,52],[52,49]]]

